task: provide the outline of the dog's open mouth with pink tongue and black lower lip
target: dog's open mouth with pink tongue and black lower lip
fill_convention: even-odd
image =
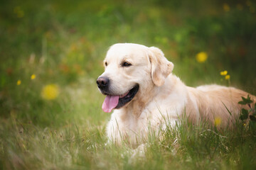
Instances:
[[[132,101],[138,91],[139,85],[137,84],[125,94],[119,96],[107,94],[105,101],[102,104],[102,110],[110,113],[114,108],[122,108],[122,106]]]

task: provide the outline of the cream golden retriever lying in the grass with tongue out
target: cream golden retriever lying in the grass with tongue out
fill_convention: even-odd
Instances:
[[[110,113],[107,137],[121,144],[139,145],[149,130],[175,125],[186,112],[196,123],[215,118],[222,125],[232,123],[241,111],[238,101],[245,91],[218,85],[186,86],[172,74],[174,64],[157,47],[132,43],[112,45],[104,60],[105,72],[97,86],[106,95],[102,110]],[[255,96],[250,95],[255,101]],[[230,115],[230,113],[232,113]]]

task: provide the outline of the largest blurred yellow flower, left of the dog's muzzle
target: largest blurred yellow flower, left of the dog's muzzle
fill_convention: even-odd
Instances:
[[[60,91],[56,84],[48,84],[43,87],[41,96],[46,100],[53,100],[58,97]]]

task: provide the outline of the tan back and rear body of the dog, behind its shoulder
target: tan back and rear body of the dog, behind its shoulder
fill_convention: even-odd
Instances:
[[[188,94],[191,101],[196,103],[196,108],[201,120],[208,120],[211,123],[218,118],[221,125],[227,125],[238,118],[242,107],[238,104],[242,100],[241,97],[247,98],[248,93],[233,87],[206,85],[198,86],[196,89],[188,87]],[[256,101],[256,97],[249,94],[252,101]],[[195,102],[196,101],[196,102]]]

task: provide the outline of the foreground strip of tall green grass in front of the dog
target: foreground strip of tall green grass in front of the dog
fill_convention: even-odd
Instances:
[[[3,130],[4,127],[4,130]],[[164,137],[149,136],[144,157],[127,145],[106,145],[104,126],[38,128],[15,118],[1,122],[4,169],[255,169],[255,131],[195,126],[187,120],[167,126]],[[7,133],[11,132],[11,133]],[[132,157],[133,156],[133,157]]]

